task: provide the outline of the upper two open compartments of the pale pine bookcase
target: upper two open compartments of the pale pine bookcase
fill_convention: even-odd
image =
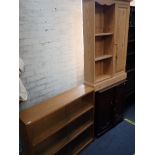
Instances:
[[[113,55],[113,19],[113,5],[95,3],[95,61],[106,59],[106,55]]]

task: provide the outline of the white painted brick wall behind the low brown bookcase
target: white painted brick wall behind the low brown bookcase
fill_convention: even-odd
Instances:
[[[28,101],[20,110],[83,82],[81,0],[20,0],[20,47]]]

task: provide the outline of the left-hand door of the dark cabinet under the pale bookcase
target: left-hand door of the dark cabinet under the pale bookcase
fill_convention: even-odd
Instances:
[[[113,89],[95,93],[95,135],[100,136],[112,126]]]

